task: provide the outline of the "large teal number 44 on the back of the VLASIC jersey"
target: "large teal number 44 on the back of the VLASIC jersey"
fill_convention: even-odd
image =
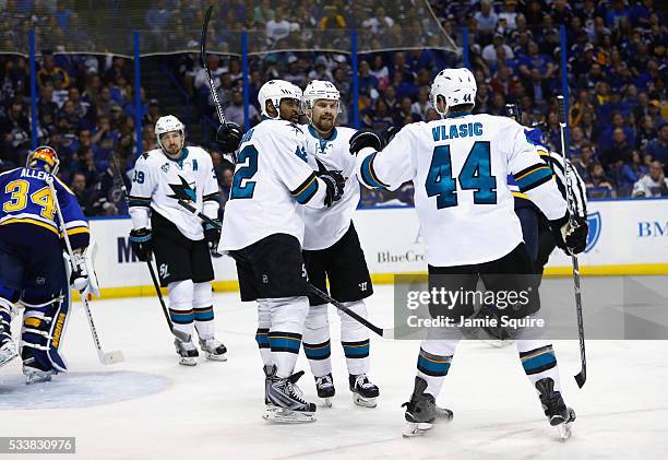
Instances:
[[[475,204],[497,203],[497,178],[491,175],[489,142],[474,143],[458,178],[452,177],[450,145],[433,150],[425,188],[428,197],[437,197],[438,209],[457,205],[457,179],[462,190],[475,190]]]

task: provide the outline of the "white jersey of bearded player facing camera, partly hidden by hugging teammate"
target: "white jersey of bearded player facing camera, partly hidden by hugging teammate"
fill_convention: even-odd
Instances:
[[[325,169],[341,170],[346,178],[344,194],[330,209],[306,209],[303,249],[326,249],[338,241],[350,227],[353,212],[359,204],[359,181],[355,175],[355,156],[350,155],[349,141],[355,130],[337,127],[330,139],[322,139],[310,125],[301,126],[307,134],[309,166],[319,169],[318,161]]]

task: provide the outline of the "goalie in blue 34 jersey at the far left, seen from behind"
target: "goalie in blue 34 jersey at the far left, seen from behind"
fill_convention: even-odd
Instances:
[[[71,307],[70,284],[81,292],[97,285],[86,251],[88,224],[74,193],[57,178],[58,166],[56,151],[40,146],[28,155],[25,167],[0,174],[0,366],[20,353],[27,384],[67,371],[60,350]],[[56,197],[47,180],[52,180]],[[56,199],[64,228],[56,215]],[[74,261],[63,256],[64,233]],[[10,330],[16,303],[24,308],[20,352]]]

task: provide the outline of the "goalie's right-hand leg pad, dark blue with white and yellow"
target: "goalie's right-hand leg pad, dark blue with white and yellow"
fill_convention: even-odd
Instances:
[[[68,370],[60,347],[68,328],[71,310],[69,290],[65,294],[43,304],[27,304],[21,329],[21,356],[24,366],[41,370],[64,373]]]

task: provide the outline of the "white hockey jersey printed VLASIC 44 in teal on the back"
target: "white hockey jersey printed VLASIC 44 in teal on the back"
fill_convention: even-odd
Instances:
[[[500,259],[522,241],[506,176],[549,220],[566,204],[524,128],[506,117],[452,114],[406,126],[383,149],[362,149],[360,182],[396,189],[413,180],[415,207],[434,267]]]

